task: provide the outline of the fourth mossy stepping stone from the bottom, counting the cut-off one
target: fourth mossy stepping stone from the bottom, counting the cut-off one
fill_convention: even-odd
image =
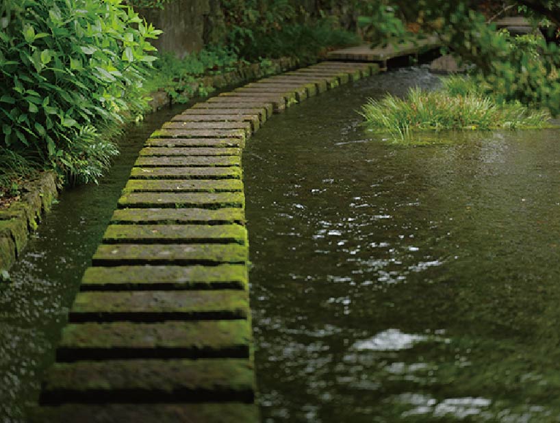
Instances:
[[[68,315],[72,323],[237,320],[249,314],[242,290],[79,292]]]

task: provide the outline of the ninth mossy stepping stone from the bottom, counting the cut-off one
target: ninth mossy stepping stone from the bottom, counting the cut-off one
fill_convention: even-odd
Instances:
[[[244,207],[242,192],[124,192],[118,199],[118,208],[125,207]]]

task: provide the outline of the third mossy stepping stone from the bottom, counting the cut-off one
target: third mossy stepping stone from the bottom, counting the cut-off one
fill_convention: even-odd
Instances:
[[[247,320],[68,324],[56,360],[249,358]]]

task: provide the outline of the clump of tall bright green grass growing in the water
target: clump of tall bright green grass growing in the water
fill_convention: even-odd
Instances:
[[[436,91],[411,88],[404,99],[391,94],[369,99],[361,115],[370,129],[396,140],[411,138],[414,131],[540,128],[550,119],[548,112],[498,101],[463,77],[444,79]]]

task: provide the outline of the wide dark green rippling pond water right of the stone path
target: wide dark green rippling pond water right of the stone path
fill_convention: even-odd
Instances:
[[[244,153],[268,422],[560,422],[560,131],[396,146],[366,97],[275,116]]]

